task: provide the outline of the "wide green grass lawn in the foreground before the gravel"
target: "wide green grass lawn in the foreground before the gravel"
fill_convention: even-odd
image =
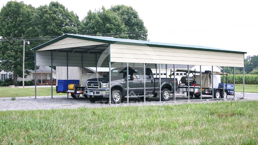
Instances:
[[[0,112],[0,144],[258,144],[258,101]]]

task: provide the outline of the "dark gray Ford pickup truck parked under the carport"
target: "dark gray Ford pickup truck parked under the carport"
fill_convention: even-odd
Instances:
[[[91,102],[99,101],[102,98],[109,98],[109,87],[111,87],[111,102],[114,104],[120,103],[122,97],[127,97],[127,80],[129,80],[129,97],[140,97],[141,99],[144,99],[143,77],[145,77],[146,82],[146,99],[159,96],[159,78],[154,78],[150,68],[146,68],[145,75],[143,75],[143,68],[129,67],[128,70],[127,76],[127,67],[112,69],[111,83],[109,82],[109,73],[100,78],[88,79],[86,82],[85,96],[87,95]],[[174,93],[174,85],[176,86],[175,90],[177,91],[177,79],[161,78],[162,101],[169,100],[171,94]]]

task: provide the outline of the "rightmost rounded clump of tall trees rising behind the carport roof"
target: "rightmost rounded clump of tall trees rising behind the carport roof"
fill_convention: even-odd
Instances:
[[[132,7],[115,6],[108,10],[91,10],[80,27],[82,35],[111,36],[125,39],[147,39],[147,29]]]

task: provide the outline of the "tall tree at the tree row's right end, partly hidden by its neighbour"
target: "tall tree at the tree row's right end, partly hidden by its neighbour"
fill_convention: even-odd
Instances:
[[[115,14],[117,14],[126,25],[129,39],[147,40],[147,28],[139,18],[136,10],[131,6],[125,5],[112,6],[110,10],[115,12]]]

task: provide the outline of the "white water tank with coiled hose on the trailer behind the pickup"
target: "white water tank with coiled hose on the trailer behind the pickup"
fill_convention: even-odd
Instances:
[[[194,76],[193,76],[194,77]],[[210,78],[212,79],[212,78]],[[204,88],[209,88],[209,75],[208,74],[201,74],[201,83],[200,83],[200,75],[195,76],[196,84],[201,84]],[[219,87],[219,80],[217,76],[213,75],[213,88]]]

